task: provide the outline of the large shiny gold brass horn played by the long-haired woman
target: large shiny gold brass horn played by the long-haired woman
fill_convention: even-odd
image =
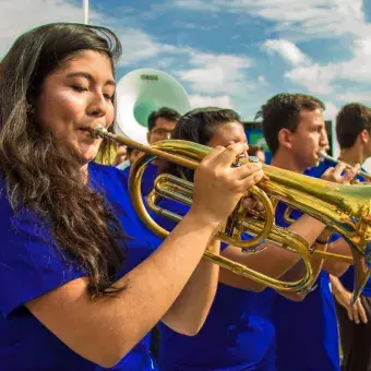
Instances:
[[[132,141],[129,137],[108,133],[103,128],[96,128],[92,131],[92,134],[131,146],[144,153],[135,160],[131,168],[129,190],[133,206],[144,224],[158,236],[166,237],[168,231],[153,220],[143,203],[141,180],[145,167],[154,158],[159,157],[195,169],[202,158],[207,155],[212,148],[196,143],[175,140],[163,141],[148,146]],[[243,164],[248,160],[247,158],[242,158],[240,163]],[[228,232],[220,230],[216,238],[246,250],[252,250],[252,248],[265,239],[288,246],[290,250],[301,255],[307,267],[306,275],[297,282],[282,282],[226,258],[214,255],[208,251],[205,251],[204,258],[236,274],[249,277],[277,290],[300,291],[310,288],[316,276],[315,273],[318,273],[320,268],[318,260],[313,260],[313,254],[303,238],[289,230],[274,226],[274,205],[266,195],[270,194],[270,196],[285,202],[290,207],[298,208],[325,225],[328,225],[342,234],[350,243],[356,272],[354,292],[354,300],[356,300],[370,275],[371,188],[364,185],[339,185],[268,165],[263,165],[263,170],[270,180],[261,181],[259,187],[253,187],[247,194],[256,195],[263,203],[265,207],[265,220],[262,223],[246,218],[244,210],[239,206],[234,213],[235,219],[232,220],[232,228],[229,228]],[[170,196],[188,204],[190,204],[192,200],[192,183],[167,175],[159,176],[155,184],[155,190],[158,194]],[[158,210],[155,202],[157,196],[156,193],[152,192],[148,199],[148,205],[154,210],[157,207],[158,213],[179,220],[179,216],[171,212]],[[256,236],[253,240],[242,240],[241,234],[246,228],[250,228],[252,235]],[[318,252],[315,252],[315,254],[316,253]]]

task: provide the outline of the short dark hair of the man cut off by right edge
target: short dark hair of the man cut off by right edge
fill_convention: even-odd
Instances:
[[[371,109],[359,103],[344,106],[336,117],[336,136],[340,148],[350,148],[362,130],[371,130]]]

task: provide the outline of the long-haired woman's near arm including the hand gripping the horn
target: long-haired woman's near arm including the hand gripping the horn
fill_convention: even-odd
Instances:
[[[230,167],[244,151],[244,144],[216,147],[202,160],[191,211],[148,259],[116,283],[124,287],[122,292],[92,299],[86,280],[79,278],[26,307],[82,357],[104,367],[116,364],[164,318],[219,226],[262,179],[260,164]],[[182,318],[166,320],[173,328],[181,327]]]

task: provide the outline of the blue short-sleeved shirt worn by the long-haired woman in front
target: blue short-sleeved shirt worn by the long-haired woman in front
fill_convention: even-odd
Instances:
[[[91,184],[105,194],[125,232],[128,260],[118,277],[145,260],[160,243],[140,222],[131,206],[122,171],[89,165]],[[24,303],[85,272],[57,248],[45,220],[31,210],[15,216],[0,180],[0,369],[7,371],[101,370],[82,358],[48,331]],[[113,370],[155,370],[146,335]]]

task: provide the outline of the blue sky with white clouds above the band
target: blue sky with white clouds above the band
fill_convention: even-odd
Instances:
[[[1,0],[0,58],[21,33],[83,22],[82,0]],[[117,77],[139,68],[173,76],[192,107],[253,120],[277,93],[306,93],[334,119],[371,105],[371,0],[89,0],[89,23],[123,45]]]

